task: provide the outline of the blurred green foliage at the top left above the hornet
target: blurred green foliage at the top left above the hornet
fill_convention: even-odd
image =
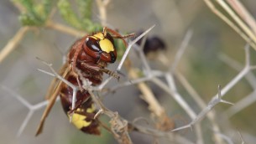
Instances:
[[[39,3],[35,0],[13,0],[13,3],[23,8],[19,20],[25,26],[44,26],[49,20],[50,13],[57,8],[65,23],[87,33],[102,29],[99,23],[91,21],[92,2],[92,0],[76,0],[75,3],[69,0],[42,0]],[[73,3],[74,8],[72,8]]]

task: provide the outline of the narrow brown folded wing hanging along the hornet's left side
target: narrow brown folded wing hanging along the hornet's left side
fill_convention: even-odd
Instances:
[[[71,65],[70,64],[64,64],[63,67],[60,69],[60,75],[65,78],[69,73],[71,72]],[[55,78],[52,80],[50,84],[50,88],[47,92],[46,99],[49,101],[48,105],[46,106],[44,110],[44,114],[41,117],[38,129],[36,131],[35,136],[38,136],[42,131],[44,127],[44,121],[48,114],[50,113],[50,110],[52,106],[55,104],[55,100],[57,96],[60,94],[60,89],[64,83],[61,80],[58,80]]]

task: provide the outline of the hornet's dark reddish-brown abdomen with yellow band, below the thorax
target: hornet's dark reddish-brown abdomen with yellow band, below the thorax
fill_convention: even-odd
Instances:
[[[69,80],[73,85],[78,85],[74,75],[68,75]],[[62,107],[67,116],[71,116],[72,92],[70,86],[64,85],[60,90],[60,100]],[[99,124],[97,119],[94,119],[97,111],[95,110],[91,95],[86,90],[78,90],[76,93],[76,109],[72,116],[72,123],[77,129],[93,135],[99,135]]]

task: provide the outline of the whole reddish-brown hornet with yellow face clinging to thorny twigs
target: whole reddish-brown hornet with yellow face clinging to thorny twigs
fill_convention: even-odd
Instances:
[[[61,104],[66,115],[70,116],[74,112],[71,122],[78,129],[89,134],[100,134],[99,121],[94,119],[97,111],[93,106],[91,95],[82,88],[82,80],[88,80],[91,85],[95,86],[102,83],[103,73],[118,78],[115,73],[105,69],[108,63],[114,63],[117,59],[117,51],[113,39],[122,39],[123,43],[127,45],[124,39],[130,36],[133,36],[133,34],[121,36],[118,32],[105,27],[102,32],[86,35],[71,46],[71,50],[67,55],[68,60],[60,69],[60,75],[79,88],[76,92],[75,109],[72,110],[71,107],[72,88],[55,78],[47,94],[49,104],[45,108],[36,136],[42,131],[44,120],[58,95],[60,95]]]

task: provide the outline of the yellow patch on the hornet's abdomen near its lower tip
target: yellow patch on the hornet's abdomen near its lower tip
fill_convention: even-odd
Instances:
[[[82,127],[86,127],[91,124],[91,121],[86,121],[85,119],[86,116],[74,113],[71,122],[76,126],[76,128],[81,129]]]

